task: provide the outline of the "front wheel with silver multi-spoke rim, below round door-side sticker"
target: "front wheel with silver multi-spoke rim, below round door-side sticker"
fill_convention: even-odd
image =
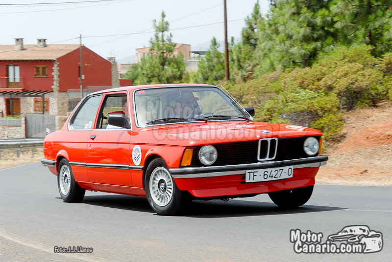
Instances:
[[[185,211],[191,201],[188,192],[178,189],[162,158],[155,158],[149,163],[145,176],[145,189],[148,204],[158,215],[179,215]]]

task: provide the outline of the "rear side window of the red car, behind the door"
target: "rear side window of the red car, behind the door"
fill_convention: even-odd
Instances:
[[[92,130],[101,99],[102,95],[88,98],[82,107],[77,111],[75,117],[71,119],[70,128],[72,130]]]

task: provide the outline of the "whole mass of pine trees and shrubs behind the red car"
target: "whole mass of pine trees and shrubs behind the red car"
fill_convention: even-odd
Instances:
[[[342,139],[343,112],[376,107],[392,98],[391,0],[258,1],[245,19],[241,40],[229,44],[230,81],[215,37],[196,72],[173,55],[169,22],[153,21],[150,53],[125,75],[136,85],[223,85],[256,121],[319,129],[327,143]]]

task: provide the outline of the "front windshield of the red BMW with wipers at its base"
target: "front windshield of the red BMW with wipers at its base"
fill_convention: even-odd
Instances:
[[[158,87],[134,92],[138,126],[249,116],[218,87]]]

